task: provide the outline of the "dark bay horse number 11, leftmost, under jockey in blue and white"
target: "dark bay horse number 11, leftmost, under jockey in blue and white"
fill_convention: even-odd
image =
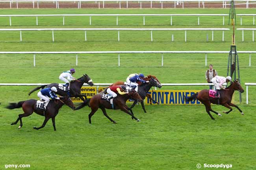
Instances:
[[[20,101],[18,103],[10,103],[9,106],[7,106],[7,109],[16,109],[16,108],[21,108],[23,110],[23,114],[19,114],[19,117],[17,119],[17,121],[13,122],[11,125],[13,124],[17,124],[20,121],[20,126],[19,129],[22,127],[22,117],[27,117],[32,115],[33,112],[37,113],[38,115],[41,116],[45,116],[45,121],[43,122],[43,125],[40,126],[39,128],[33,127],[36,130],[39,130],[43,127],[45,127],[45,124],[47,123],[47,121],[52,118],[52,125],[54,130],[56,130],[55,127],[55,117],[59,112],[59,109],[66,104],[67,106],[69,106],[70,108],[72,108],[73,110],[75,109],[75,106],[73,104],[73,102],[71,101],[70,97],[65,96],[65,97],[60,97],[59,100],[50,100],[47,107],[46,107],[46,111],[45,114],[43,113],[43,110],[40,109],[36,109],[36,102],[37,100],[34,99],[30,99],[27,101]]]

